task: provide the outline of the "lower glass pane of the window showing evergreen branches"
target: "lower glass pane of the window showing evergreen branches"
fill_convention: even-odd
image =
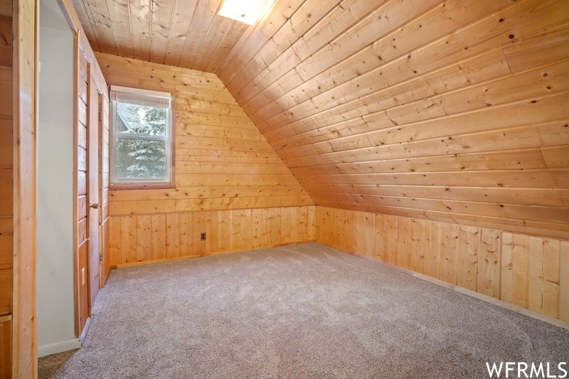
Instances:
[[[117,138],[117,178],[166,178],[166,142]]]

